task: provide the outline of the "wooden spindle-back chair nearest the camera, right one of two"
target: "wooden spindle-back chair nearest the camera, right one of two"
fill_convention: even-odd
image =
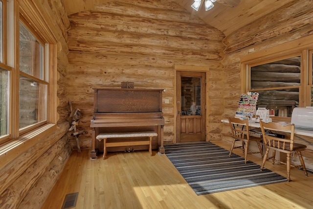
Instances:
[[[294,124],[291,125],[282,125],[280,123],[275,123],[275,122],[269,122],[265,123],[263,121],[260,122],[261,130],[262,130],[262,135],[263,135],[263,145],[266,148],[266,152],[263,158],[261,170],[263,170],[265,162],[267,160],[272,159],[272,164],[276,163],[282,163],[287,165],[287,180],[290,182],[290,170],[291,167],[295,168],[300,168],[302,167],[303,172],[305,176],[308,176],[307,169],[305,167],[301,151],[306,149],[306,145],[304,144],[299,144],[299,143],[294,143],[293,142],[293,137],[294,137]],[[276,137],[272,134],[268,135],[268,131],[270,130],[275,130],[279,132],[287,132],[287,135],[290,133],[290,137],[285,137],[285,139]],[[272,150],[272,157],[268,158],[268,152],[269,150]],[[286,162],[282,162],[280,160],[275,159],[275,154],[276,151],[286,153],[287,159]],[[290,159],[291,156],[294,155],[294,153],[297,153],[299,156],[300,160],[300,165],[291,165]]]

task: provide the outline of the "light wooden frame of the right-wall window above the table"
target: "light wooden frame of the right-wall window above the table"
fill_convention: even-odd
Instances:
[[[299,107],[311,106],[309,102],[311,95],[310,87],[313,87],[313,85],[310,86],[309,82],[310,79],[312,81],[312,67],[313,67],[312,38],[313,36],[311,35],[281,45],[271,46],[269,48],[254,53],[250,53],[241,57],[241,93],[246,93],[247,91],[250,90],[250,67],[300,55],[301,82],[299,86]],[[257,90],[251,91],[257,92]],[[278,120],[280,119],[280,117],[278,116],[273,117],[277,118]],[[291,119],[291,117],[282,117],[282,118]]]

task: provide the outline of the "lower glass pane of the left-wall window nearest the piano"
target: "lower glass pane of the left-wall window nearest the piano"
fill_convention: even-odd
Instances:
[[[45,121],[47,85],[20,76],[20,129]]]

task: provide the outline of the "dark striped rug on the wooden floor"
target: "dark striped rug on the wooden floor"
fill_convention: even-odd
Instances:
[[[196,194],[268,185],[287,179],[211,142],[166,144],[165,154]]]

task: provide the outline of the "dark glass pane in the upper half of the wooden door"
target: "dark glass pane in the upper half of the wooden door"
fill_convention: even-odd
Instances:
[[[181,77],[181,115],[201,115],[200,77]]]

